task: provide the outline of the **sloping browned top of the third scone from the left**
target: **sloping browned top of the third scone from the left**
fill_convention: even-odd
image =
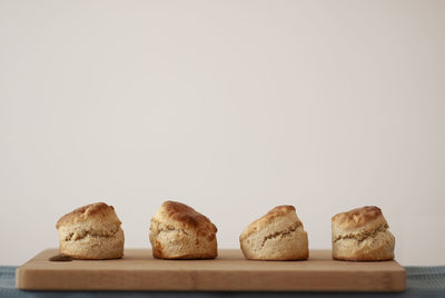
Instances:
[[[296,228],[298,228],[298,227],[303,228],[303,222],[297,217],[295,207],[291,205],[281,205],[281,206],[275,207],[274,209],[268,211],[265,216],[258,218],[257,220],[251,222],[249,226],[247,226],[246,229],[239,236],[239,239],[240,240],[245,239],[253,232],[256,232],[259,229],[265,228],[266,226],[276,221],[277,219],[283,219],[283,224],[293,222]],[[285,224],[285,225],[287,225],[287,224]]]

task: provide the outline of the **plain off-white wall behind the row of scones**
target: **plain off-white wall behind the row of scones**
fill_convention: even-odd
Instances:
[[[103,200],[149,247],[166,199],[237,248],[291,203],[312,248],[379,206],[445,265],[445,1],[0,0],[0,264]]]

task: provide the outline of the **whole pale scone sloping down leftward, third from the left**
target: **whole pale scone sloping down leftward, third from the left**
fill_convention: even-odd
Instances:
[[[307,232],[294,206],[278,206],[251,222],[239,236],[253,260],[304,260],[309,257]]]

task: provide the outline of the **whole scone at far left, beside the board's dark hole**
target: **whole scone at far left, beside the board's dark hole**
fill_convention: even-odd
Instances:
[[[112,206],[96,202],[59,219],[59,250],[75,259],[101,260],[123,256],[123,230]]]

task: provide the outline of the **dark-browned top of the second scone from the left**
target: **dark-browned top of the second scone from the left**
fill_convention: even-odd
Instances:
[[[155,217],[154,221],[170,222],[188,229],[208,229],[210,232],[217,232],[216,226],[206,216],[199,213],[190,206],[178,201],[165,201]]]

